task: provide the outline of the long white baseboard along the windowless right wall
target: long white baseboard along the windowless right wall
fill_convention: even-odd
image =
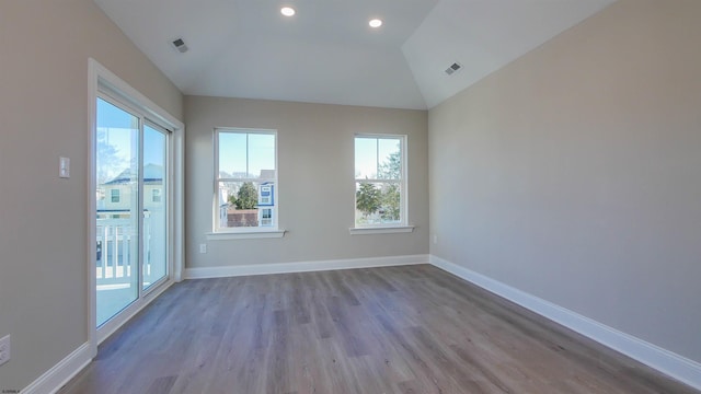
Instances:
[[[430,264],[531,310],[558,324],[589,337],[604,346],[617,350],[634,360],[650,366],[694,389],[701,390],[701,363],[679,356],[632,335],[572,312],[552,302],[540,299],[508,285],[450,263],[429,256]]]

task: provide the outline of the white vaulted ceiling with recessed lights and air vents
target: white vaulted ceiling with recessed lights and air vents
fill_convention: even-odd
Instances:
[[[614,0],[94,1],[185,94],[425,109]]]

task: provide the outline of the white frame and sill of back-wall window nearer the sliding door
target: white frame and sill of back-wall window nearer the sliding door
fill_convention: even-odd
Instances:
[[[219,135],[222,132],[246,134],[246,135],[273,135],[275,137],[275,176],[273,178],[254,178],[254,177],[220,177],[219,176]],[[248,154],[248,151],[246,151]],[[207,240],[245,240],[262,237],[281,237],[285,230],[278,228],[279,217],[279,199],[278,199],[278,165],[277,165],[277,130],[274,129],[255,129],[255,128],[238,128],[238,127],[217,127],[214,134],[214,194],[212,194],[212,230],[207,234]],[[246,158],[248,160],[248,158]],[[272,209],[273,223],[265,227],[240,227],[240,228],[222,228],[219,227],[219,184],[221,182],[254,182],[261,184],[264,182],[273,182],[273,200],[275,205]]]

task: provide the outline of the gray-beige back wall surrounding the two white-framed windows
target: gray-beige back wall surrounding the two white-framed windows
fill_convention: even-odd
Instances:
[[[242,99],[185,97],[186,267],[428,253],[427,112]],[[283,239],[207,241],[212,229],[215,127],[277,130]],[[354,134],[409,136],[413,233],[350,235]],[[207,243],[200,254],[198,244]]]

